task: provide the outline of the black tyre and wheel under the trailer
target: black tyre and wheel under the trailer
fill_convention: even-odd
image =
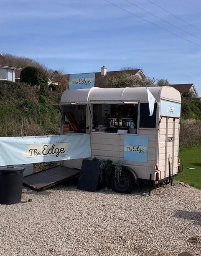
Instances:
[[[132,175],[127,172],[122,170],[122,174],[120,176],[120,180],[118,182],[117,178],[114,177],[115,175],[112,175],[111,178],[111,186],[112,190],[114,190],[117,193],[130,193],[133,191],[135,187],[135,181]]]

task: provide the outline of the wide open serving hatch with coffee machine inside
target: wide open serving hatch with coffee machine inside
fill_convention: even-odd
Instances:
[[[93,104],[94,132],[137,133],[138,104]]]

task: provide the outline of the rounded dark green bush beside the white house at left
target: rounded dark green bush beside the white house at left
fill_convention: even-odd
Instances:
[[[21,71],[20,81],[31,86],[41,84],[48,86],[48,78],[46,74],[41,71],[40,68],[33,66],[28,66]]]

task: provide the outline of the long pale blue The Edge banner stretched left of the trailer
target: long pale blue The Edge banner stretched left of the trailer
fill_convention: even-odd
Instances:
[[[89,134],[0,137],[0,166],[91,157]]]

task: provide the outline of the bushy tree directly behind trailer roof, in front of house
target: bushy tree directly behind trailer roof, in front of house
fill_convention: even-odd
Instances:
[[[145,86],[156,86],[155,81],[147,78],[142,80],[140,77],[133,74],[123,73],[120,76],[114,76],[109,79],[109,87],[145,87]]]

